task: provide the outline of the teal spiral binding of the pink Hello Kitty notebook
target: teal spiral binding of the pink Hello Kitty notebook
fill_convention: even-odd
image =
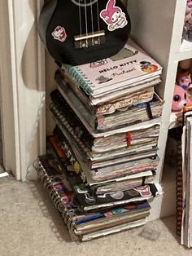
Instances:
[[[85,76],[84,73],[81,72],[78,66],[71,66],[68,64],[63,64],[62,69],[68,72],[68,74],[76,80],[77,84],[81,86],[81,88],[85,91],[87,95],[90,95],[91,90],[90,86],[92,83],[89,81],[88,77]]]

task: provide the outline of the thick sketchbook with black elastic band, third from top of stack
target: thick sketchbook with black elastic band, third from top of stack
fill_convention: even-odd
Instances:
[[[87,130],[93,133],[104,133],[110,130],[116,130],[125,126],[131,126],[142,121],[148,121],[161,116],[164,101],[157,94],[153,95],[151,101],[136,104],[129,108],[120,108],[115,113],[93,115],[89,113],[78,99],[69,99],[63,90],[54,90],[50,97],[55,103],[68,108],[68,113],[76,113],[76,116],[82,121]]]

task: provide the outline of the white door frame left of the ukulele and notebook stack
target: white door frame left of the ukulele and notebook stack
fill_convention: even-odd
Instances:
[[[4,168],[24,181],[46,152],[45,51],[37,36],[42,0],[0,3],[0,110]]]

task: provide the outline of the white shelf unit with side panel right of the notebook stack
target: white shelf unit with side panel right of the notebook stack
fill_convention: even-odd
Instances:
[[[171,107],[178,61],[192,58],[192,43],[181,42],[185,5],[185,0],[127,1],[132,21],[131,37],[164,68],[162,83],[156,87],[164,99],[159,133],[160,161],[156,176],[156,181],[164,188],[164,194],[151,203],[151,219],[174,214],[176,209],[175,170],[164,167],[164,153],[168,129],[176,126]]]

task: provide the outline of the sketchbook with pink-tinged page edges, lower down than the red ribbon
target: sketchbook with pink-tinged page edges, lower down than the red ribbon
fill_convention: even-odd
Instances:
[[[73,136],[68,135],[68,130],[63,128],[59,121],[55,120],[59,129],[57,134],[63,149],[71,146],[71,153],[73,158],[79,162],[83,170],[82,179],[89,183],[90,186],[99,183],[119,182],[126,179],[133,179],[141,176],[146,176],[146,170],[151,170],[150,175],[153,175],[153,170],[156,170],[159,163],[159,157],[143,157],[134,161],[128,161],[113,166],[104,166],[100,169],[90,169],[89,157],[85,157],[82,153],[79,143],[76,143]],[[59,132],[60,130],[60,132]],[[60,137],[61,136],[61,137]],[[139,176],[138,176],[139,174]],[[147,175],[149,175],[147,173]]]

